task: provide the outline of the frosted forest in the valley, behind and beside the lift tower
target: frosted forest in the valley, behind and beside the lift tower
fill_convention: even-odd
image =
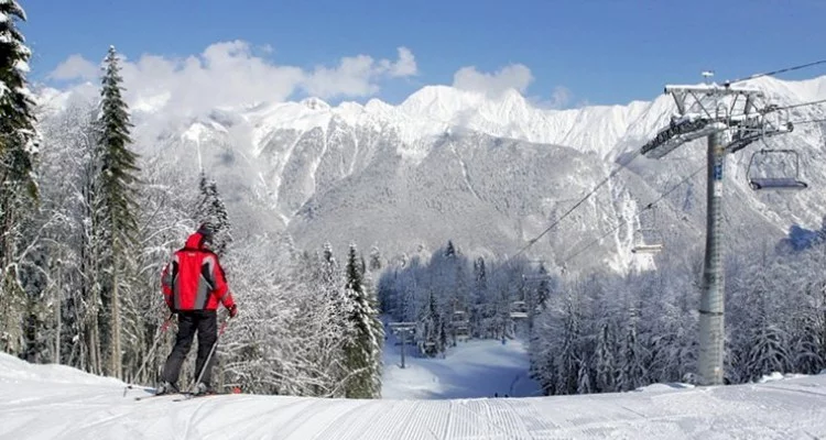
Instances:
[[[728,256],[726,383],[826,369],[826,230],[813,233],[805,246],[781,240]],[[465,329],[530,341],[531,374],[547,395],[696,383],[702,257],[579,275],[526,258],[488,263],[448,242],[385,272],[379,299],[393,320],[419,323],[428,355],[460,343]]]

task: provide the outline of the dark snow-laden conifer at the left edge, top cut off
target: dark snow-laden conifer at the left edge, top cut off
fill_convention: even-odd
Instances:
[[[19,249],[31,201],[37,198],[34,103],[26,87],[31,51],[18,21],[25,12],[14,0],[0,2],[0,350],[23,350],[26,297],[19,276]]]

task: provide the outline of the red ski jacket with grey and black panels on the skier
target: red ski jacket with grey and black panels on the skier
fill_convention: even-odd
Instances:
[[[195,232],[176,251],[161,275],[161,288],[172,310],[216,310],[235,305],[218,255],[205,249]]]

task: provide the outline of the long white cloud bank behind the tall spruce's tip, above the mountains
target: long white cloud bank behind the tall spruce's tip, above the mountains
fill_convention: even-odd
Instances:
[[[258,47],[272,52],[272,47]],[[202,54],[185,58],[142,55],[124,59],[122,75],[127,99],[133,108],[169,108],[195,113],[216,107],[278,102],[303,90],[320,98],[366,97],[379,91],[382,80],[416,74],[413,54],[398,48],[399,58],[376,61],[368,55],[344,57],[337,67],[276,65],[253,53],[243,41],[220,42]],[[73,55],[50,74],[51,79],[70,80],[97,77],[98,68]]]

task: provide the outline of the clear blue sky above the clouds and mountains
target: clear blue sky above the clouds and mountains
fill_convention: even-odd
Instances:
[[[652,99],[666,82],[700,81],[702,69],[715,69],[722,80],[826,58],[826,1],[819,0],[21,4],[29,15],[21,29],[34,52],[32,78],[55,85],[63,82],[48,79],[50,73],[70,55],[98,63],[109,44],[134,61],[142,54],[183,58],[215,43],[241,40],[267,63],[308,72],[333,69],[343,57],[357,55],[394,62],[403,46],[415,57],[415,75],[387,70],[370,79],[369,89],[332,92],[330,100],[378,97],[398,103],[424,85],[453,84],[463,67],[496,73],[522,64],[533,78],[524,95],[551,100],[564,89],[568,99],[558,103],[572,107]],[[826,69],[814,68],[783,78],[824,74]],[[524,78],[517,82],[525,86]]]

